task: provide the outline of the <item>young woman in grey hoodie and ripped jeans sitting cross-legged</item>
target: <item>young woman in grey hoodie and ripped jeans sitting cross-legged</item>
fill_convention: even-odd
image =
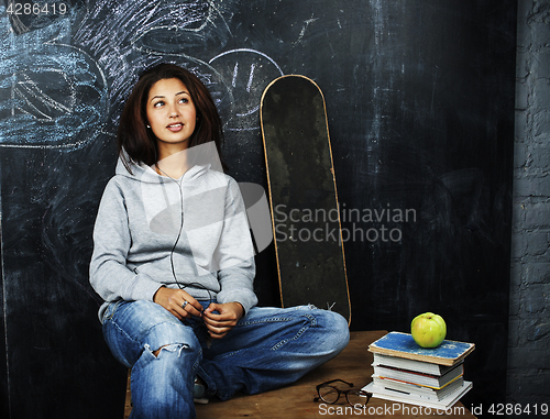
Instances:
[[[132,368],[132,418],[195,418],[194,399],[301,377],[349,341],[345,319],[256,307],[254,253],[221,122],[200,80],[144,73],[124,107],[119,163],[99,207],[90,283],[113,355]]]

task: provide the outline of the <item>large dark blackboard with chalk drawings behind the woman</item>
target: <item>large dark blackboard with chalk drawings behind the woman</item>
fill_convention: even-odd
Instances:
[[[205,80],[230,174],[264,187],[261,93],[283,74],[312,78],[352,329],[408,331],[439,312],[449,339],[476,344],[469,401],[504,401],[515,1],[40,3],[48,14],[0,8],[2,417],[122,417],[125,372],[102,341],[88,262],[122,103],[157,62]],[[257,265],[261,304],[278,304],[273,246]]]

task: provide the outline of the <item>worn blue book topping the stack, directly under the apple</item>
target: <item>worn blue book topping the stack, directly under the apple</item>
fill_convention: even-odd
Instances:
[[[473,343],[444,340],[437,348],[420,348],[409,333],[389,332],[369,345],[369,351],[406,360],[454,365],[475,349]]]

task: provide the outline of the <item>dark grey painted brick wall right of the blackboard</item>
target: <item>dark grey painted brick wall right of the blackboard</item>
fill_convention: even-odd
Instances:
[[[550,404],[550,0],[518,3],[507,399],[526,406]]]

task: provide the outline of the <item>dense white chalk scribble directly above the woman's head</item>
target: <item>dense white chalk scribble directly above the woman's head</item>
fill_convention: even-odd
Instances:
[[[212,96],[218,96],[217,103],[231,108],[229,90],[216,86],[221,81],[205,63],[223,51],[232,36],[222,15],[232,0],[87,3],[86,13],[75,25],[73,41],[97,58],[108,77],[112,126],[118,124],[122,110],[117,108],[128,98],[139,73],[161,62],[200,74],[207,87],[212,87]],[[224,112],[220,109],[220,113]]]

